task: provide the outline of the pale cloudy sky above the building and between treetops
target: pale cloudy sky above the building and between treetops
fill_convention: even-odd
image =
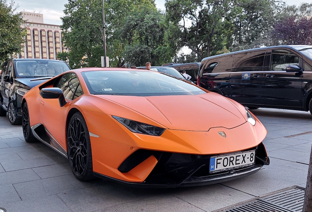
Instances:
[[[311,3],[312,0],[284,0],[287,5],[299,5],[300,3]],[[10,2],[8,0],[7,2]],[[43,14],[45,24],[61,25],[60,17],[64,16],[64,4],[68,0],[14,0],[17,11],[33,12]],[[164,10],[165,0],[155,0],[157,8]]]

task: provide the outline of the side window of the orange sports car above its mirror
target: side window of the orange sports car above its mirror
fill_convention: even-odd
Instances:
[[[64,75],[56,87],[59,87],[63,91],[66,99],[74,100],[83,94],[79,80],[74,73]]]

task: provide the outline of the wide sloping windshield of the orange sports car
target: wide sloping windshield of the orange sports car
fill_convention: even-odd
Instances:
[[[127,96],[197,95],[206,93],[183,80],[150,71],[88,71],[82,76],[91,94]]]

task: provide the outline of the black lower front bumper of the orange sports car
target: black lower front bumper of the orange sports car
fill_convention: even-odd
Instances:
[[[118,170],[125,174],[129,173],[139,164],[154,157],[157,159],[157,163],[151,173],[141,183],[121,180],[117,181],[132,186],[142,187],[184,187],[226,182],[251,175],[259,171],[263,165],[269,165],[270,160],[263,143],[244,151],[250,150],[256,150],[256,161],[254,165],[238,169],[230,169],[223,172],[209,173],[208,166],[210,158],[216,155],[192,155],[140,149],[124,160],[124,162],[118,167]],[[100,178],[116,181],[114,178],[99,173],[94,174]]]

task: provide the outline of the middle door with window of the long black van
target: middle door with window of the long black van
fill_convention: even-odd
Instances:
[[[230,98],[245,104],[262,104],[265,50],[235,53],[230,75]]]

